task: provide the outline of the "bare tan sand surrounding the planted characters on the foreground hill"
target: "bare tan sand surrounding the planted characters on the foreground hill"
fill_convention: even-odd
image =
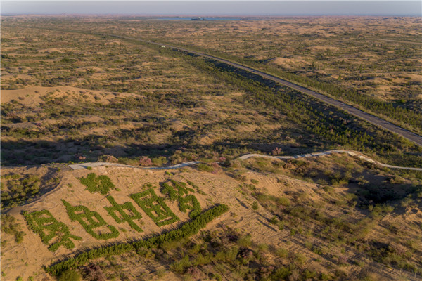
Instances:
[[[193,183],[198,185],[207,194],[195,194],[203,209],[211,207],[216,203],[228,204],[230,207],[229,213],[217,218],[210,223],[207,228],[212,228],[215,224],[224,221],[228,226],[234,226],[242,229],[244,233],[250,233],[253,240],[256,240],[257,242],[270,241],[274,246],[281,243],[281,240],[283,240],[283,236],[285,235],[273,226],[268,225],[267,221],[271,218],[271,214],[263,208],[261,208],[259,212],[255,212],[250,208],[252,201],[250,198],[243,197],[243,195],[238,192],[238,189],[236,188],[238,182],[229,176],[201,173],[191,168],[173,170],[172,174],[174,175],[172,176],[169,176],[162,170],[151,171],[117,166],[98,166],[92,171],[96,174],[104,174],[111,178],[120,191],[113,190],[110,192],[110,195],[120,204],[128,201],[132,202],[128,195],[143,190],[143,183],[150,182],[154,185],[158,185],[158,183],[166,181],[168,178],[184,182],[189,180],[193,181]],[[51,214],[53,214],[58,221],[62,221],[70,227],[70,232],[72,234],[83,238],[82,241],[75,241],[77,249],[95,247],[104,244],[105,242],[95,240],[94,237],[91,237],[91,235],[85,232],[84,228],[82,228],[79,223],[70,221],[66,214],[65,207],[60,202],[62,199],[72,205],[82,204],[92,211],[97,211],[110,225],[127,230],[127,232],[124,233],[120,231],[119,237],[108,240],[107,242],[123,242],[127,239],[139,240],[141,237],[177,227],[178,223],[173,223],[170,226],[163,226],[161,228],[156,226],[151,218],[146,216],[134,202],[132,203],[136,206],[136,209],[143,214],[141,228],[143,228],[144,232],[140,235],[132,230],[132,228],[129,228],[127,223],[115,223],[113,218],[108,216],[106,210],[103,209],[103,207],[110,205],[108,200],[106,200],[103,195],[98,193],[91,194],[85,190],[85,186],[77,179],[81,176],[86,176],[92,171],[87,169],[63,171],[60,173],[61,182],[57,188],[46,193],[35,202],[23,207],[11,209],[8,211],[8,214],[18,218],[18,221],[20,221],[23,226],[26,226],[23,216],[20,214],[21,211],[39,211],[42,209],[51,211]],[[271,184],[267,185],[267,189],[272,190],[271,193],[277,193],[278,191],[276,191],[276,189],[280,190],[283,188],[283,185],[277,183],[275,178],[272,180],[268,179],[265,183]],[[70,185],[72,186],[70,187]],[[158,189],[155,190],[155,192],[160,195]],[[166,204],[182,222],[188,220],[188,216],[179,211],[177,203],[166,201]],[[57,261],[64,256],[71,255],[72,252],[74,252],[74,250],[60,247],[58,251],[53,253],[47,249],[46,245],[42,244],[38,235],[32,233],[32,231],[26,227],[23,229],[25,231],[23,243],[15,244],[14,242],[9,242],[6,244],[6,247],[2,249],[3,259],[1,268],[2,271],[6,273],[6,277],[4,277],[3,280],[15,280],[18,276],[21,276],[26,280],[27,277],[34,275],[34,273],[38,273],[35,280],[42,280],[42,278],[48,277],[48,275],[43,272],[41,266],[48,266],[51,262]],[[10,240],[10,237],[8,238],[8,240]]]

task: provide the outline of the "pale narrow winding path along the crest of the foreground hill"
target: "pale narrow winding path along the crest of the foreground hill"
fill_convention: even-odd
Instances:
[[[422,171],[422,168],[413,168],[413,167],[402,167],[402,166],[392,166],[388,164],[383,164],[380,162],[376,162],[375,160],[366,157],[364,155],[359,155],[356,152],[350,151],[350,150],[328,150],[324,152],[312,152],[308,154],[303,155],[295,155],[295,156],[271,156],[271,155],[262,155],[262,154],[247,154],[243,155],[241,157],[238,157],[238,160],[245,160],[252,157],[261,157],[261,158],[268,158],[268,159],[299,159],[299,158],[306,158],[306,157],[319,157],[323,155],[331,155],[333,153],[346,153],[350,156],[357,157],[359,159],[362,159],[366,162],[370,162],[373,164],[377,164],[378,166],[383,166],[385,168],[390,169],[404,169],[404,170],[413,170],[413,171]],[[148,170],[166,170],[166,169],[178,169],[182,168],[184,166],[192,166],[194,164],[199,164],[198,161],[191,161],[191,162],[184,162],[181,164],[176,164],[173,166],[167,166],[167,167],[139,167],[139,166],[130,166],[130,165],[124,165],[124,164],[117,164],[117,163],[108,163],[108,162],[89,162],[89,163],[81,163],[81,164],[70,164],[69,167],[74,170],[80,170],[80,169],[87,169],[87,167],[97,167],[97,166],[120,166],[120,167],[127,167],[127,168],[136,168],[136,169],[148,169]]]

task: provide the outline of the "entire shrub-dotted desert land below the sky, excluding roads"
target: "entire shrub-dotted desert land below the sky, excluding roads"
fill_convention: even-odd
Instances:
[[[420,146],[250,72],[113,37],[241,62],[420,134],[420,18],[1,24],[2,279],[422,278],[422,172],[357,157],[420,168]],[[357,156],[238,158],[332,149]]]

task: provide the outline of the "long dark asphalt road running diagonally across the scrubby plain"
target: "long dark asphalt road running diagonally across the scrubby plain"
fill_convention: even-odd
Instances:
[[[283,84],[284,86],[288,86],[292,89],[295,89],[297,91],[300,91],[302,93],[306,93],[309,96],[312,96],[314,98],[317,98],[319,100],[322,100],[324,103],[328,103],[329,105],[334,105],[335,107],[340,108],[341,110],[344,110],[345,112],[350,113],[351,115],[354,115],[356,117],[359,117],[361,119],[364,119],[366,122],[369,122],[371,124],[375,124],[376,126],[380,126],[383,129],[386,129],[388,131],[392,131],[393,133],[397,133],[400,136],[407,138],[409,141],[416,143],[417,145],[421,145],[422,146],[422,136],[419,136],[416,133],[413,133],[411,131],[408,131],[407,129],[403,129],[400,126],[397,126],[395,124],[392,124],[388,121],[385,121],[384,119],[381,119],[379,117],[376,117],[374,115],[371,115],[369,113],[366,113],[362,110],[358,110],[355,107],[352,107],[352,105],[347,105],[346,103],[343,103],[339,100],[335,100],[333,98],[329,98],[328,96],[325,96],[321,93],[316,93],[316,91],[312,91],[309,90],[303,86],[299,86],[298,84],[294,84],[290,81],[286,81],[284,79],[281,79],[279,77],[276,77],[274,75],[271,74],[267,74],[265,72],[262,72],[260,70],[255,70],[251,67],[247,67],[245,65],[241,65],[239,63],[233,63],[229,60],[224,60],[222,58],[218,58],[215,57],[214,55],[207,55],[205,53],[200,53],[197,51],[191,51],[188,50],[186,48],[181,48],[181,47],[177,47],[177,46],[171,46],[171,45],[167,45],[167,44],[160,44],[154,41],[148,41],[148,40],[143,40],[143,39],[136,39],[136,38],[132,38],[132,37],[124,37],[124,36],[119,36],[119,35],[115,35],[115,34],[98,34],[98,35],[103,35],[103,36],[111,36],[111,37],[116,37],[116,38],[122,38],[122,39],[129,39],[129,40],[135,40],[135,41],[141,41],[143,43],[148,43],[148,44],[153,44],[153,45],[157,45],[157,46],[165,46],[167,48],[172,48],[176,51],[183,51],[186,53],[192,53],[194,55],[200,55],[203,56],[204,58],[211,58],[212,60],[217,60],[219,62],[222,63],[226,63],[227,65],[231,65],[237,68],[240,68],[242,70],[246,70],[248,72],[252,72],[254,74],[258,74],[264,78],[270,79],[272,81],[276,81],[279,84]]]

